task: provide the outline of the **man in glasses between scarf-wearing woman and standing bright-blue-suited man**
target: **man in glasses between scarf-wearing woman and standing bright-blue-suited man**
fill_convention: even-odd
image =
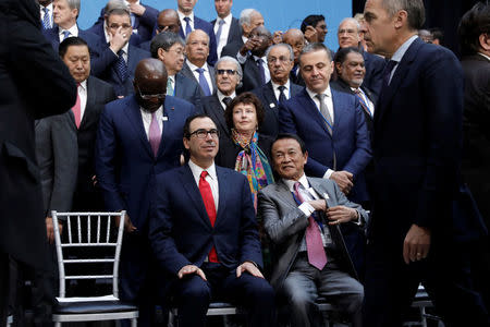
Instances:
[[[294,52],[290,45],[278,44],[266,51],[270,81],[252,92],[262,102],[266,116],[260,124],[260,133],[275,137],[279,133],[279,102],[297,95],[303,87],[290,80],[294,64]]]

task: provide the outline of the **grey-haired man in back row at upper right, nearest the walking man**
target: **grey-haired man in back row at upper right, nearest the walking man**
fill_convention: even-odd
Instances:
[[[376,96],[381,90],[382,73],[384,70],[384,59],[380,56],[364,51],[360,45],[360,25],[355,19],[343,20],[336,32],[339,48],[358,48],[364,58],[366,74],[364,86],[370,89]]]

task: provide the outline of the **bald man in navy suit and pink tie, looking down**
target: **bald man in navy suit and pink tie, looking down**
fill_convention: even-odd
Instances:
[[[160,60],[142,60],[135,70],[135,94],[106,106],[96,144],[97,180],[106,209],[127,213],[120,295],[138,305],[138,326],[150,326],[155,304],[147,238],[149,185],[155,174],[180,166],[182,130],[195,111],[193,105],[166,96],[167,78]]]

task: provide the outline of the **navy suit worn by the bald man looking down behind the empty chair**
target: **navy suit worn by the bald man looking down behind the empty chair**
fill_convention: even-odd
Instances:
[[[125,209],[136,232],[124,237],[121,256],[121,298],[132,302],[150,301],[155,294],[149,281],[149,184],[156,174],[180,166],[183,152],[182,130],[187,117],[195,113],[191,104],[168,96],[164,101],[162,137],[154,156],[143,125],[139,105],[134,96],[106,106],[99,121],[96,145],[97,180],[102,189],[106,209]],[[152,293],[151,293],[152,292]],[[140,304],[139,303],[139,304]],[[140,304],[140,320],[149,315]],[[146,307],[146,310],[150,310]]]

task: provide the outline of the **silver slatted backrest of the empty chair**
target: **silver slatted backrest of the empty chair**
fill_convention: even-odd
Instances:
[[[65,298],[68,280],[81,279],[112,279],[112,293],[119,298],[119,258],[124,230],[125,211],[121,213],[58,213],[53,210],[52,222],[54,229],[54,242],[58,256],[58,270],[60,278],[60,298]],[[58,221],[63,221],[62,237]],[[121,222],[121,223],[119,223]],[[110,256],[72,258],[64,253],[68,249],[110,249]],[[90,251],[97,254],[100,251]],[[103,252],[102,252],[103,253]],[[94,265],[95,274],[90,275],[66,275],[68,265],[99,264]],[[112,274],[107,274],[105,264],[112,264]],[[107,266],[106,266],[107,267]],[[76,269],[75,269],[76,270]]]

